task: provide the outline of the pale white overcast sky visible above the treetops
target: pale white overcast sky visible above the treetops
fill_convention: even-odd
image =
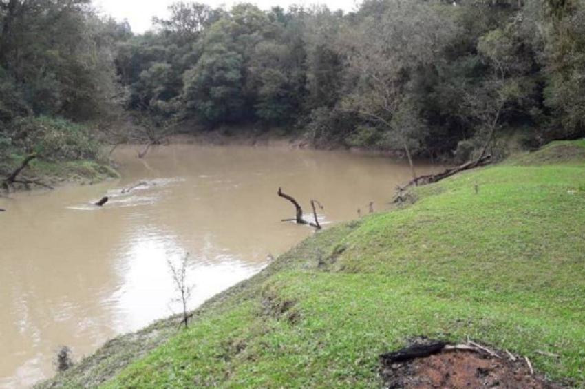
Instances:
[[[94,0],[94,5],[103,12],[109,14],[118,21],[128,19],[132,31],[142,33],[151,27],[152,17],[167,17],[167,6],[175,0]],[[197,0],[212,7],[226,6],[231,8],[237,0]],[[354,9],[356,0],[249,0],[263,10],[269,10],[273,6],[288,8],[291,4],[310,6],[314,3],[326,4],[332,10],[341,8],[345,11]]]

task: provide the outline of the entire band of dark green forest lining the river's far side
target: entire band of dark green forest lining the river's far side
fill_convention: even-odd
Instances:
[[[0,170],[32,152],[105,158],[103,143],[169,128],[459,162],[585,135],[583,0],[169,11],[134,34],[91,0],[1,0]]]

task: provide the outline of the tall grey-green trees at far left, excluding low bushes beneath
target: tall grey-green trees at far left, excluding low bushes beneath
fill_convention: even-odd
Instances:
[[[0,120],[107,112],[116,96],[113,43],[124,31],[89,0],[3,0],[0,28]]]

